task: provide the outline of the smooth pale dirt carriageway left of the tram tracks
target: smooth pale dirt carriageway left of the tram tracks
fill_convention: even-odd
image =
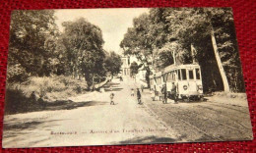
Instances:
[[[4,147],[76,146],[174,142],[177,133],[167,128],[144,105],[131,97],[128,78],[112,80],[105,92],[70,98],[87,102],[72,110],[43,111],[5,117]],[[110,90],[115,105],[110,105]]]

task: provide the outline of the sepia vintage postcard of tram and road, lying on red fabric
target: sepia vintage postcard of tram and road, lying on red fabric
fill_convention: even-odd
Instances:
[[[4,148],[252,139],[230,8],[12,12]]]

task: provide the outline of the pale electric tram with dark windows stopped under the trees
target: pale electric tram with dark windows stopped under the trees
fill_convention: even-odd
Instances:
[[[171,96],[172,82],[176,85],[176,97],[180,100],[203,100],[203,85],[201,70],[198,64],[187,64],[165,67],[161,72],[150,76],[151,89],[160,96],[160,89],[166,84],[167,95]]]

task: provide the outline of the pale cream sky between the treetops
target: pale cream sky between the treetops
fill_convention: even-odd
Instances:
[[[103,49],[121,54],[119,44],[128,27],[133,25],[133,19],[143,13],[149,13],[147,8],[137,9],[76,9],[56,10],[56,24],[62,31],[63,22],[72,22],[81,17],[102,30]]]

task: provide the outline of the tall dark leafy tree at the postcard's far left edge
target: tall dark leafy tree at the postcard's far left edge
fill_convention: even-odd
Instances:
[[[48,37],[56,36],[54,22],[53,10],[12,12],[9,68],[19,67],[29,76],[50,75],[51,52],[45,49],[44,43]]]

